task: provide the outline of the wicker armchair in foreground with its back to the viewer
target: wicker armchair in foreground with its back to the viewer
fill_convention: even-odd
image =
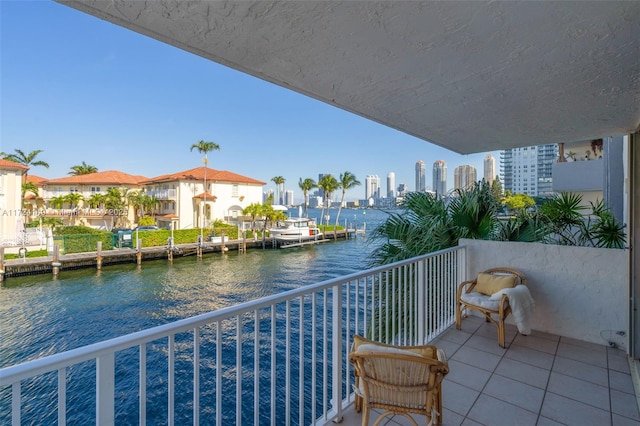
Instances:
[[[429,425],[442,423],[442,379],[449,373],[442,349],[435,346],[394,346],[354,337],[349,360],[356,377],[356,410],[362,425],[370,410],[385,410],[374,426],[391,415],[402,415],[418,426],[411,414],[427,417]],[[431,356],[430,356],[431,355]]]

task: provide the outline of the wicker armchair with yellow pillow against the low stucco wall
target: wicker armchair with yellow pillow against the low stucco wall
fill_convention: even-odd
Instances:
[[[460,330],[462,323],[462,311],[463,309],[472,309],[482,313],[487,322],[492,322],[498,328],[498,344],[500,347],[505,347],[505,332],[504,321],[511,313],[511,307],[509,306],[509,299],[505,294],[502,294],[498,299],[491,297],[489,291],[479,290],[478,278],[488,276],[495,280],[503,280],[512,278],[511,287],[517,285],[527,285],[527,279],[524,274],[518,270],[511,268],[492,268],[487,269],[484,272],[478,274],[473,280],[464,281],[458,286],[458,293],[456,297],[456,328]],[[483,283],[484,284],[484,283]],[[498,288],[499,288],[498,284]],[[495,290],[494,287],[491,290]]]

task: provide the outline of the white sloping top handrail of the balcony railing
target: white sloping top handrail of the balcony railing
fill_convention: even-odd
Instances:
[[[65,352],[47,356],[45,358],[26,361],[21,364],[5,367],[0,369],[0,386],[8,386],[11,383],[33,377],[35,375],[54,371],[59,368],[77,364],[79,362],[95,359],[102,355],[114,353],[123,349],[128,349],[143,343],[152,342],[169,335],[183,333],[206,324],[223,321],[247,312],[270,307],[282,302],[286,302],[287,300],[294,300],[308,294],[313,294],[318,291],[341,286],[351,281],[357,281],[359,279],[376,275],[404,265],[416,263],[429,257],[435,257],[441,254],[458,251],[463,248],[464,246],[456,246],[444,250],[439,250],[411,259],[390,263],[388,265],[378,266],[338,278],[332,278],[317,284],[300,287],[283,293],[274,294],[272,296],[263,297],[261,299],[222,308],[217,311],[207,312],[201,315],[185,318],[169,324],[152,327],[146,330],[141,330],[135,333],[127,334],[102,342],[93,343],[91,345],[82,346],[80,348],[71,349]]]

